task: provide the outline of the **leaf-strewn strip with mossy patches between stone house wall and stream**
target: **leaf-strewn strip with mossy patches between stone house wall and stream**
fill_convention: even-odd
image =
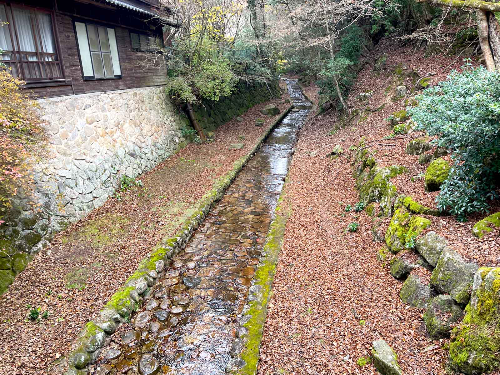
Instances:
[[[45,373],[47,364],[68,350],[150,248],[172,235],[214,180],[249,152],[273,120],[254,126],[256,118],[265,117],[258,110],[269,103],[248,110],[242,122],[219,127],[213,142],[189,144],[140,176],[141,184],[131,181],[119,200],[118,195],[108,199],[35,256],[0,297],[0,373]],[[228,149],[240,142],[244,148]],[[36,308],[48,317],[29,320]]]

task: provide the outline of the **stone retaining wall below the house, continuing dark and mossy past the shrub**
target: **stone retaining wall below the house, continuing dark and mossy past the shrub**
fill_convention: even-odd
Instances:
[[[271,86],[276,97],[277,85]],[[213,130],[268,100],[262,86],[240,85],[219,102],[196,108],[201,126]],[[162,86],[39,99],[47,123],[49,155],[37,163],[34,193],[22,191],[0,226],[0,293],[33,253],[71,222],[101,206],[124,177],[135,178],[185,145],[190,126]]]

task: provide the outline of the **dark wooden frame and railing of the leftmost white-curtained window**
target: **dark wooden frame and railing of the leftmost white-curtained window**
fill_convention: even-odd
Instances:
[[[60,40],[59,40],[59,34],[57,30],[57,24],[55,22],[55,12],[53,9],[47,9],[47,8],[42,8],[39,6],[29,6],[29,5],[24,5],[23,3],[12,3],[9,1],[0,1],[0,6],[4,6],[5,8],[5,15],[7,17],[7,22],[8,24],[3,26],[3,27],[8,27],[9,31],[9,36],[10,36],[10,42],[12,44],[12,50],[4,50],[4,53],[12,54],[14,59],[12,60],[1,60],[3,63],[5,63],[7,66],[8,65],[15,65],[18,76],[20,79],[24,80],[26,82],[26,86],[30,85],[31,83],[53,83],[53,82],[63,82],[66,81],[66,72],[64,69],[64,61],[62,58],[62,53],[61,53],[61,47],[60,47]],[[30,52],[30,53],[35,53],[36,57],[38,58],[37,60],[25,60],[22,58],[22,54],[28,54],[28,53],[22,53],[19,46],[19,38],[17,35],[17,30],[15,27],[15,17],[13,16],[12,9],[24,9],[28,11],[34,11],[34,12],[41,12],[41,13],[46,13],[50,15],[50,21],[51,21],[51,26],[52,26],[52,36],[54,38],[54,44],[55,44],[55,53],[53,52],[44,52],[43,51],[43,46],[41,45],[41,36],[40,36],[40,29],[39,29],[39,24],[36,22],[37,29],[33,30],[35,34],[33,35],[33,42],[36,47],[36,51],[24,51],[24,52]],[[31,20],[32,22],[32,20]],[[34,24],[32,23],[32,27]],[[44,55],[55,55],[57,57],[57,60],[53,61],[47,61],[44,59],[40,59],[40,56]],[[24,64],[32,64],[32,65],[39,65],[40,72],[42,71],[42,66],[45,69],[45,72],[48,72],[49,70],[52,71],[51,68],[49,68],[49,65],[59,65],[59,70],[61,75],[60,76],[48,76],[47,77],[34,77],[34,78],[28,78],[25,74],[25,66]]]

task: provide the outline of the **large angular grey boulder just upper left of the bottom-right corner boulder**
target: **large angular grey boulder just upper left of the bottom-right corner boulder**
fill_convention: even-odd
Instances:
[[[432,271],[430,284],[439,293],[451,295],[458,303],[467,303],[476,270],[477,264],[466,262],[459,253],[445,247]]]

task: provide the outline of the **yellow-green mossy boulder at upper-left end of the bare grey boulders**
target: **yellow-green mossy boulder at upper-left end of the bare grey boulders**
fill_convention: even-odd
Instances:
[[[430,226],[429,219],[417,215],[410,215],[405,208],[398,208],[392,216],[387,232],[385,243],[392,252],[398,252],[405,248],[409,236],[417,236]]]

